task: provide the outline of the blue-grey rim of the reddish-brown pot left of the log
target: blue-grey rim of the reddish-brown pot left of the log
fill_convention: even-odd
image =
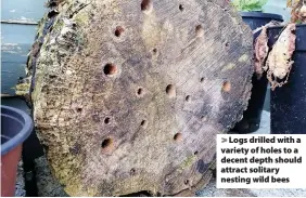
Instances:
[[[33,120],[25,111],[20,110],[20,109],[14,108],[14,107],[1,105],[1,117],[7,116],[7,117],[11,117],[11,118],[12,118],[12,116],[8,115],[8,114],[3,114],[2,109],[7,109],[7,110],[14,111],[14,113],[18,114],[22,117],[22,120],[18,119],[18,121],[23,123],[23,129],[15,136],[10,138],[4,144],[1,143],[1,156],[8,154],[10,150],[17,147],[20,144],[22,144],[30,135],[30,133],[34,129]],[[3,124],[3,123],[1,123],[1,124]]]

